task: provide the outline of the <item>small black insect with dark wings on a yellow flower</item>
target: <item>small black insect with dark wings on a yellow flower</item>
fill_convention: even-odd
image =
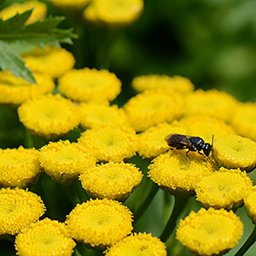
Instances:
[[[185,149],[188,148],[189,150],[186,151],[186,156],[189,160],[189,151],[197,151],[199,154],[202,154],[206,160],[207,156],[209,156],[212,145],[210,143],[205,143],[205,141],[201,137],[193,137],[193,136],[186,136],[177,133],[171,133],[165,137],[166,143],[170,146],[170,149]],[[212,143],[213,143],[213,135],[212,135]],[[202,152],[200,152],[202,150]]]

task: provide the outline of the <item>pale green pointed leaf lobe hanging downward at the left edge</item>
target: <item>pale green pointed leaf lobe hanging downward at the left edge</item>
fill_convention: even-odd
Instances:
[[[22,77],[32,84],[36,84],[32,72],[25,66],[15,50],[0,40],[0,67],[2,70],[8,69],[15,77]]]

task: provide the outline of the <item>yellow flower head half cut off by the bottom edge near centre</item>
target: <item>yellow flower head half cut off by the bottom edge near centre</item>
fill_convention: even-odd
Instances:
[[[133,233],[113,247],[108,248],[106,256],[166,256],[166,245],[151,234]]]

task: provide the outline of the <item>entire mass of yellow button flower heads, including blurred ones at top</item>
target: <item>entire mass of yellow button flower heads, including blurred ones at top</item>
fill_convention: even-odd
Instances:
[[[0,17],[31,9],[28,3],[28,22],[42,19],[46,5],[36,1],[15,4]],[[109,31],[133,23],[144,5],[49,3]],[[256,224],[256,188],[248,175],[256,166],[255,103],[195,90],[182,76],[148,74],[133,78],[136,95],[117,104],[122,81],[107,68],[76,68],[72,53],[53,46],[22,57],[37,84],[0,72],[0,104],[15,108],[26,134],[24,144],[0,148],[0,238],[15,240],[17,255],[86,255],[79,252],[84,248],[106,256],[176,256],[177,241],[196,255],[222,255],[243,234],[238,208],[245,205]],[[183,140],[171,147],[165,138],[177,134]],[[137,224],[156,193],[165,201],[154,209],[154,221],[166,225],[162,234]]]

